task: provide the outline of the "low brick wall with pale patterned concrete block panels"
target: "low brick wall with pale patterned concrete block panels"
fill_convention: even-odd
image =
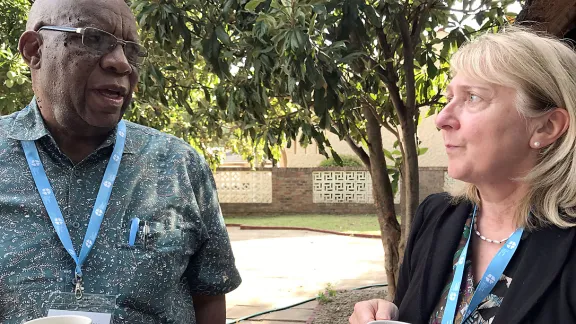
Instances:
[[[420,169],[421,200],[448,189],[452,182],[445,173]],[[376,212],[370,173],[363,168],[223,168],[214,178],[225,216]]]

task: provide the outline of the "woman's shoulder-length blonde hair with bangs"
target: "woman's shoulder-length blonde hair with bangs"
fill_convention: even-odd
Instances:
[[[533,118],[566,109],[570,127],[543,148],[537,165],[518,181],[529,187],[515,215],[518,226],[576,226],[576,52],[567,43],[526,28],[506,27],[463,45],[452,57],[452,75],[463,73],[517,91],[516,107]],[[478,189],[467,184],[456,200],[480,205]],[[529,216],[530,212],[533,216]]]

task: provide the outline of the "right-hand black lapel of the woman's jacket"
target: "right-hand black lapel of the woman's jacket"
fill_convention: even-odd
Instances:
[[[494,324],[523,323],[564,268],[575,231],[550,227],[532,232]],[[504,311],[505,310],[505,311]]]

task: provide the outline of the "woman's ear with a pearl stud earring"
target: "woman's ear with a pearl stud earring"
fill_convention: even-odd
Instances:
[[[570,127],[570,114],[564,108],[554,108],[536,118],[536,127],[530,138],[530,146],[535,149],[556,142]]]

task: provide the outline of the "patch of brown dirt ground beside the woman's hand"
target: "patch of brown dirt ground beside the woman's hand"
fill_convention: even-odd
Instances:
[[[367,299],[385,298],[386,294],[384,287],[338,291],[331,301],[316,307],[310,324],[349,324],[348,318],[354,311],[354,304]]]

